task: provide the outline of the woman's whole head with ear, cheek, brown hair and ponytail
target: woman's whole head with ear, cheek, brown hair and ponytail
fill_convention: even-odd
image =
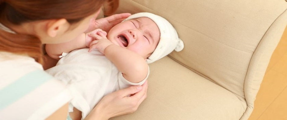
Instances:
[[[105,1],[0,0],[0,22],[17,33],[0,30],[0,51],[27,53],[37,60],[41,43],[65,42],[83,33]]]

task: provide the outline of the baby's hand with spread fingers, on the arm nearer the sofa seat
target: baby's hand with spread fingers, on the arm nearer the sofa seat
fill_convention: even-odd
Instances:
[[[111,45],[111,41],[109,41],[106,37],[106,35],[102,32],[97,32],[97,34],[88,34],[90,37],[95,39],[92,41],[89,45],[89,52],[91,52],[93,49],[98,49],[100,52],[104,54],[104,51],[107,46]]]

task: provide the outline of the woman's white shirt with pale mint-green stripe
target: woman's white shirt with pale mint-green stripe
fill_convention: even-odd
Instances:
[[[71,100],[68,88],[33,58],[0,52],[0,119],[45,119]]]

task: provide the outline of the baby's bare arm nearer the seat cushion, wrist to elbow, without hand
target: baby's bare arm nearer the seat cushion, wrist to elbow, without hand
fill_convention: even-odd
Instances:
[[[106,47],[104,53],[128,81],[138,83],[146,78],[149,69],[148,64],[137,53],[114,44]]]

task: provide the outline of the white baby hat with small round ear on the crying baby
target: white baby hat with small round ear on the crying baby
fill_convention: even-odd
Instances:
[[[182,40],[179,39],[176,29],[174,29],[173,26],[161,16],[155,15],[153,13],[136,13],[129,16],[124,21],[139,17],[150,18],[160,29],[160,41],[153,53],[147,58],[148,64],[163,58],[173,50],[179,52],[183,49],[184,44]]]

